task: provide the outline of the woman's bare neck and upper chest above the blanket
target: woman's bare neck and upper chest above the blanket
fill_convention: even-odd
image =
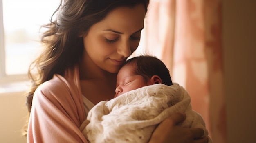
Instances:
[[[102,70],[90,58],[86,58],[79,62],[79,76],[81,92],[92,103],[114,97],[117,73]]]

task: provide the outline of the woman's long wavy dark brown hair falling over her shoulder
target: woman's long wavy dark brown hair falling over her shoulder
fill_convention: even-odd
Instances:
[[[32,82],[26,102],[29,113],[36,88],[52,79],[54,74],[63,75],[81,59],[83,39],[78,35],[87,33],[113,9],[137,4],[144,4],[147,12],[149,0],[61,0],[52,15],[55,20],[51,18],[49,24],[42,26],[48,29],[41,37],[43,52],[29,67],[28,76]]]

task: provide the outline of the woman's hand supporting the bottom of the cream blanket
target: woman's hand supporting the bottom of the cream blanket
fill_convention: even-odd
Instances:
[[[165,119],[153,132],[149,143],[208,143],[201,128],[184,128],[178,123],[186,119],[186,114],[175,113]]]

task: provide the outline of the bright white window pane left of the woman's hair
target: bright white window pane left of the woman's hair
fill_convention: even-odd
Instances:
[[[5,72],[27,73],[40,50],[39,28],[49,19],[60,0],[2,0]]]

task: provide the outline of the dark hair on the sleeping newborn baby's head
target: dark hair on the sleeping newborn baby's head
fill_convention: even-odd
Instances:
[[[169,70],[157,57],[150,55],[133,57],[128,59],[123,66],[129,64],[136,67],[134,71],[135,74],[141,75],[145,81],[147,81],[148,78],[151,78],[153,75],[158,75],[162,79],[163,84],[167,86],[173,85]]]

